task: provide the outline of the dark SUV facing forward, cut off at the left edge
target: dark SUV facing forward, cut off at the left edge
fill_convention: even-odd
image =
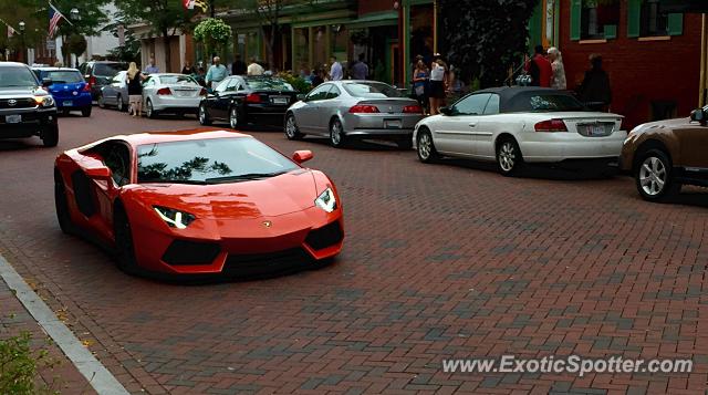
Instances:
[[[46,147],[59,143],[54,98],[23,63],[0,62],[0,138],[39,136]]]

